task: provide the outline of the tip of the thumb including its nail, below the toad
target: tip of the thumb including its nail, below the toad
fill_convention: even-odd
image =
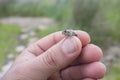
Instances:
[[[69,53],[69,54],[72,53],[75,56],[79,56],[82,49],[82,43],[76,36],[64,38],[63,43],[62,43],[62,50],[64,53]]]

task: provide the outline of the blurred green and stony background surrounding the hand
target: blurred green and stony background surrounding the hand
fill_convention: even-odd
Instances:
[[[120,0],[0,0],[0,77],[28,45],[69,28],[102,48],[103,80],[120,80]]]

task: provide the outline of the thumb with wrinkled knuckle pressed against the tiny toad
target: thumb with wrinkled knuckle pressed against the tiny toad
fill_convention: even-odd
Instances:
[[[38,68],[45,76],[51,76],[72,63],[80,55],[81,48],[77,37],[67,37],[36,58]]]

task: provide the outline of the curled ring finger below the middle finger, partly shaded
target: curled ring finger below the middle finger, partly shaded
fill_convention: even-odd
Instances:
[[[99,79],[105,75],[106,68],[100,62],[70,67],[62,71],[65,80],[80,80],[83,78]]]

